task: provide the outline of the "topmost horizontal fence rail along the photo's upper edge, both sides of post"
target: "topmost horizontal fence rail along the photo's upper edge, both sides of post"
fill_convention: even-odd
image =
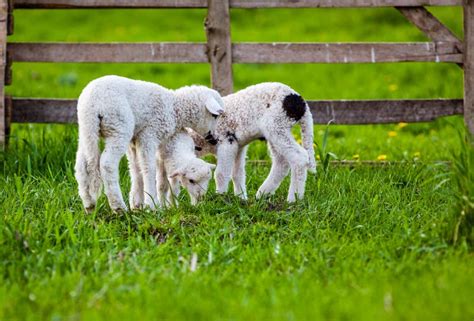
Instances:
[[[232,8],[460,6],[462,0],[230,0]],[[205,8],[207,0],[15,0],[15,8]]]

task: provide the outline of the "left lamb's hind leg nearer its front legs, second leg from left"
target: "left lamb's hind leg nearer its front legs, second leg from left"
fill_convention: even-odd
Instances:
[[[100,175],[104,191],[113,211],[126,211],[119,182],[119,163],[127,150],[129,137],[113,137],[105,139],[105,148],[100,156]]]

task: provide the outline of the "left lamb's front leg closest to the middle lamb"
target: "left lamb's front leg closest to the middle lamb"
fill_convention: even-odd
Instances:
[[[140,170],[143,176],[143,191],[145,205],[150,209],[155,209],[157,205],[156,197],[156,141],[151,137],[142,136],[137,141],[137,155],[140,162]]]

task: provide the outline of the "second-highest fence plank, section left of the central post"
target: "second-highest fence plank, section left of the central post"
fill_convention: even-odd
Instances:
[[[203,43],[9,43],[18,62],[208,62]]]

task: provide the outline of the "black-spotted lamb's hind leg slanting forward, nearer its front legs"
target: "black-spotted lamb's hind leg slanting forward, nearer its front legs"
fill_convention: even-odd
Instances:
[[[283,179],[288,175],[290,165],[286,161],[285,157],[280,155],[272,143],[268,143],[268,149],[270,150],[270,155],[272,157],[272,168],[270,169],[270,174],[263,182],[262,186],[257,191],[257,198],[262,197],[266,194],[273,194],[280,186]]]

